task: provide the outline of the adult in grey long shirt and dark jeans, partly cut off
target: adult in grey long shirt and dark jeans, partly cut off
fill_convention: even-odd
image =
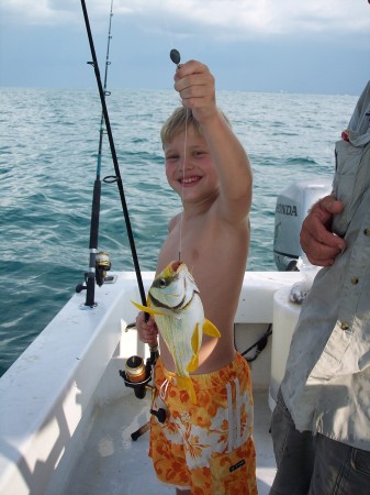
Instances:
[[[370,81],[301,244],[315,277],[272,415],[271,495],[370,493]]]

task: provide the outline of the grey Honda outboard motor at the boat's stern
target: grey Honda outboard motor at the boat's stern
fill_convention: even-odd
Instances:
[[[273,257],[281,272],[294,270],[303,251],[300,244],[301,226],[310,208],[332,193],[332,180],[298,180],[277,199],[274,213]]]

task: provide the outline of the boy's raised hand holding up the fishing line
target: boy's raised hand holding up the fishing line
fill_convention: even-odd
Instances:
[[[217,114],[214,77],[206,65],[197,61],[181,64],[173,79],[183,107],[192,110],[198,122]]]

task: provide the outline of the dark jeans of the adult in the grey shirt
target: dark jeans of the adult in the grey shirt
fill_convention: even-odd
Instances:
[[[270,495],[370,494],[370,452],[298,431],[280,391],[271,433],[278,472]]]

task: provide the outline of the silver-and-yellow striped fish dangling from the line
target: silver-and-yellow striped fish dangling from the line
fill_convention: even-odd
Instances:
[[[132,301],[136,308],[153,316],[158,331],[171,353],[176,383],[197,404],[190,373],[199,366],[203,333],[220,338],[218,329],[204,317],[200,290],[187,265],[172,261],[154,279],[147,307]]]

